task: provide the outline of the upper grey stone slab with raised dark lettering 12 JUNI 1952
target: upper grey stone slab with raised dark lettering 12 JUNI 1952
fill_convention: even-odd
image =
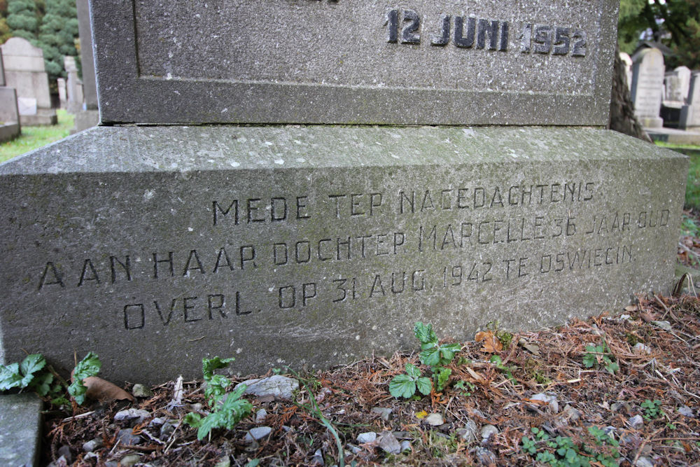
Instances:
[[[118,0],[91,14],[104,124],[608,122],[617,1]]]

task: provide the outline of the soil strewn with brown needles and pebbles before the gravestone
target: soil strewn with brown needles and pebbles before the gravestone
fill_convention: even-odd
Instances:
[[[685,218],[679,260],[697,267],[700,216]],[[492,326],[480,342],[462,343],[446,389],[428,396],[395,398],[388,389],[406,363],[430,376],[417,340],[413,354],[288,375],[301,383],[293,400],[246,396],[251,414],[202,441],[180,423],[188,412],[207,414],[202,381],[181,391],[167,382],[134,403],[48,411],[43,465],[62,465],[62,454],[74,466],[700,465],[700,300],[689,289],[640,295],[625,309],[554,329],[511,335]],[[146,412],[115,421],[130,407]],[[261,409],[267,416],[256,422]],[[271,431],[246,440],[259,426]],[[377,440],[358,442],[367,432]],[[384,449],[394,438],[407,441],[400,453]],[[102,447],[86,452],[90,440]]]

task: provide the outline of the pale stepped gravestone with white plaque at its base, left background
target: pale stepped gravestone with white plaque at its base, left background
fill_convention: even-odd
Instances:
[[[8,87],[17,91],[20,123],[55,125],[56,112],[51,109],[48,75],[41,48],[32,46],[21,37],[8,39],[0,48],[3,53],[6,83]]]

